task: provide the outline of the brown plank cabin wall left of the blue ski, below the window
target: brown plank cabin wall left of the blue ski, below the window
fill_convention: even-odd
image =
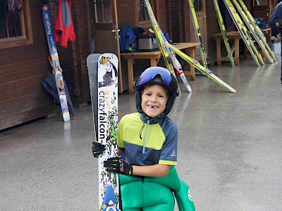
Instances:
[[[0,47],[0,130],[56,113],[56,106],[42,89],[50,66],[39,1],[30,0],[30,15],[33,42]]]

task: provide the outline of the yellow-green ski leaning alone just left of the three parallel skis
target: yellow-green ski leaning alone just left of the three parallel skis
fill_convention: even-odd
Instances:
[[[216,10],[216,17],[217,17],[217,20],[219,21],[219,27],[220,27],[222,38],[223,38],[223,41],[224,41],[224,44],[225,44],[225,47],[226,47],[227,55],[228,55],[229,60],[231,62],[231,66],[234,67],[235,63],[234,63],[232,51],[231,51],[231,48],[230,48],[229,40],[228,40],[228,37],[227,37],[227,34],[226,34],[226,28],[225,28],[225,25],[223,23],[223,18],[222,18],[221,11],[219,9],[219,4],[218,4],[217,0],[214,0],[214,8]]]

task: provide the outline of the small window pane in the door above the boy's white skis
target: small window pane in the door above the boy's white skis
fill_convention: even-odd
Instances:
[[[110,0],[97,0],[94,1],[96,23],[112,23],[112,11]]]

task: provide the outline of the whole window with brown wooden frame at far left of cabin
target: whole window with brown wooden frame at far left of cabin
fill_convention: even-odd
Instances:
[[[1,49],[30,44],[32,34],[27,6],[29,6],[29,0],[0,0]]]

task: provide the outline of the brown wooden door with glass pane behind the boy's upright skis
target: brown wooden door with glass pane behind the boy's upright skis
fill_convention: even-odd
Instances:
[[[91,0],[90,0],[91,1]],[[92,39],[95,53],[115,53],[118,56],[118,92],[123,92],[121,55],[118,39],[116,0],[92,0]]]

